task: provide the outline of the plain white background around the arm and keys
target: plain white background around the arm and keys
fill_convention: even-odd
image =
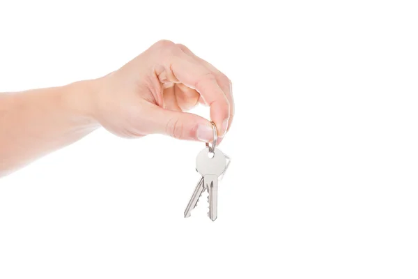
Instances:
[[[183,43],[233,81],[232,163],[215,223],[183,218],[196,142],[98,130],[6,176],[1,279],[417,278],[415,1],[61,2],[0,2],[0,91]]]

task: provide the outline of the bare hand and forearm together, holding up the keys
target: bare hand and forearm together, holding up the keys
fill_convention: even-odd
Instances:
[[[224,137],[234,114],[231,81],[184,45],[161,40],[109,75],[64,86],[0,93],[0,177],[97,128],[120,137],[163,134],[210,142],[210,107]]]

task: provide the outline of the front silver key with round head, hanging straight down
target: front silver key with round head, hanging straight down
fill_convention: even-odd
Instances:
[[[207,188],[209,192],[208,216],[212,221],[215,221],[217,218],[218,178],[225,172],[227,165],[226,156],[219,149],[214,149],[213,152],[210,152],[208,148],[203,149],[196,158],[196,170],[203,176],[203,187]]]

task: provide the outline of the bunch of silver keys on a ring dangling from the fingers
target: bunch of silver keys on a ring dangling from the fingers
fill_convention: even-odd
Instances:
[[[231,162],[231,158],[226,156],[222,151],[216,148],[217,129],[215,123],[212,122],[213,141],[210,146],[206,143],[206,148],[199,152],[196,158],[196,171],[201,174],[201,179],[194,189],[193,195],[189,200],[185,210],[185,218],[190,217],[190,212],[199,202],[199,197],[205,190],[208,190],[210,220],[215,221],[217,218],[217,187],[218,181],[222,179],[226,169]]]

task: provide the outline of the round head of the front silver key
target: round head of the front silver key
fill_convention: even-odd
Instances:
[[[202,176],[216,175],[219,177],[226,169],[227,160],[225,154],[219,149],[215,149],[212,155],[212,158],[210,158],[211,153],[208,148],[203,149],[197,155],[196,171]]]

